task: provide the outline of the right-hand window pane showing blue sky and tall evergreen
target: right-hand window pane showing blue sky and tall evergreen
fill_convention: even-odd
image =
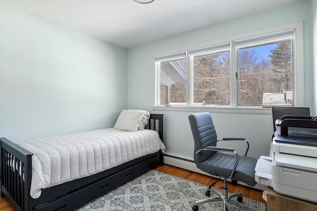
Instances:
[[[239,49],[239,105],[292,105],[292,42]]]

